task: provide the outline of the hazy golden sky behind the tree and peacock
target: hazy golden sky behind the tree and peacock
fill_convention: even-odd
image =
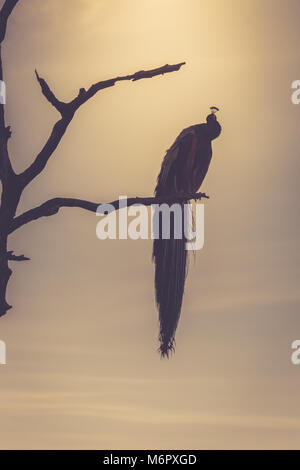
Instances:
[[[183,128],[214,105],[223,131],[169,360],[156,351],[150,240],[100,241],[80,209],[10,237],[31,260],[13,265],[0,319],[1,449],[300,448],[299,14],[297,0],[20,0],[3,46],[17,172],[58,117],[35,68],[67,101],[186,65],[87,102],[18,213],[56,196],[151,196]]]

